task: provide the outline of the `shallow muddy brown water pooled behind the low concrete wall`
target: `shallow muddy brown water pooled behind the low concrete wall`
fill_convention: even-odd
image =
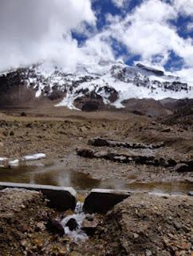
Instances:
[[[94,179],[77,169],[66,168],[65,163],[54,160],[49,163],[28,162],[27,166],[12,169],[0,168],[0,182],[73,186],[76,190],[106,188],[174,194],[184,194],[193,190],[193,182],[131,182],[131,180],[117,178]]]

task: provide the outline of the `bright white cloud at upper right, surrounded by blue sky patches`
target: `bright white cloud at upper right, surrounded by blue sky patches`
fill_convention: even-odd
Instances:
[[[178,11],[170,3],[146,0],[122,20],[108,16],[111,25],[103,31],[103,37],[115,38],[127,47],[128,54],[140,55],[143,62],[164,65],[173,51],[186,66],[193,66],[192,39],[179,36],[171,25],[176,18]]]

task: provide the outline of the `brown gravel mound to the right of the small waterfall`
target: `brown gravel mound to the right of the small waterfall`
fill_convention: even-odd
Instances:
[[[192,210],[191,198],[133,194],[108,212],[76,255],[191,256]]]

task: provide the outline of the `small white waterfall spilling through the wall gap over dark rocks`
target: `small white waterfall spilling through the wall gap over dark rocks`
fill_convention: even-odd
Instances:
[[[66,226],[71,218],[75,219],[77,222],[77,229],[73,231],[69,230],[69,226]],[[61,221],[61,225],[65,230],[65,234],[72,237],[75,242],[78,242],[78,240],[85,241],[86,239],[88,239],[87,234],[85,234],[85,232],[81,230],[82,222],[84,221],[84,219],[85,213],[83,212],[83,203],[77,202],[74,214],[63,218],[63,220]]]

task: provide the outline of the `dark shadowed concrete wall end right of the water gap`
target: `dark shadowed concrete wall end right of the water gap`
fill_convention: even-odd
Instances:
[[[91,190],[85,198],[83,210],[89,214],[106,213],[130,195],[131,193],[126,190]]]

